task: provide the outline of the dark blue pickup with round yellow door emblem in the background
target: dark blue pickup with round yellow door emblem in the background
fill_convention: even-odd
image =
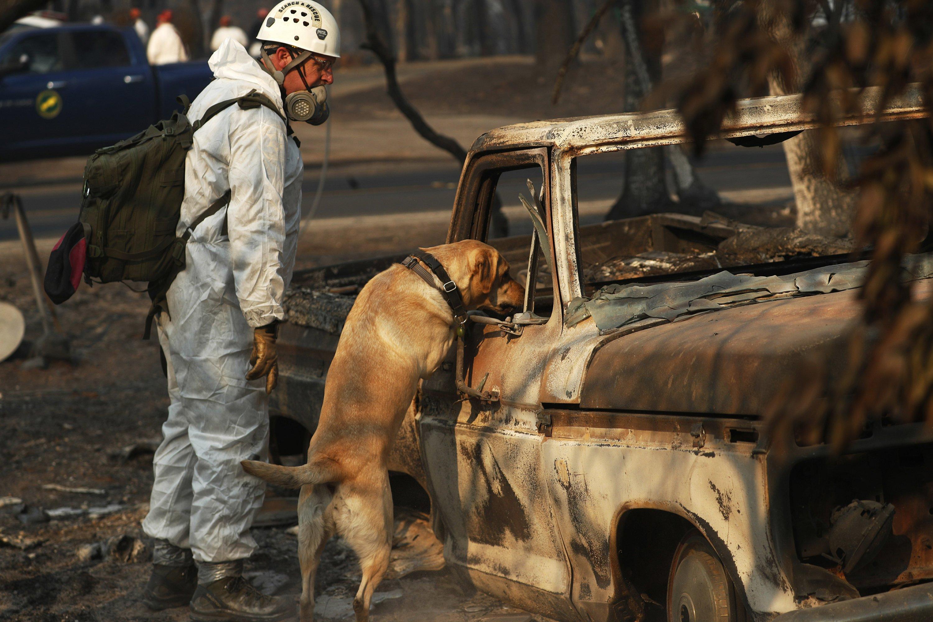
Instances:
[[[0,161],[94,149],[172,116],[213,77],[206,62],[153,66],[132,28],[67,24],[0,34]]]

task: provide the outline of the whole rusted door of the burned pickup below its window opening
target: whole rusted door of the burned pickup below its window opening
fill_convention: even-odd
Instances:
[[[536,590],[535,611],[576,619],[567,617],[573,611],[570,573],[562,536],[547,519],[551,510],[537,433],[541,373],[562,331],[556,317],[546,325],[524,326],[521,337],[495,326],[471,326],[466,382],[475,386],[489,373],[484,389],[500,399],[423,412],[419,433],[447,559],[488,589],[504,589],[516,604],[534,604],[525,600]],[[439,389],[435,380],[429,382]]]

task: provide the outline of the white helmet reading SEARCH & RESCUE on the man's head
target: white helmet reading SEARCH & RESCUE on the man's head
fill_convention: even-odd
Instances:
[[[285,0],[272,7],[259,41],[283,43],[315,54],[341,56],[341,29],[327,8],[313,0]]]

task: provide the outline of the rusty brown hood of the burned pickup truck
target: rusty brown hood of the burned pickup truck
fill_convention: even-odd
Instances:
[[[929,297],[933,281],[914,284]],[[806,362],[842,373],[857,290],[684,316],[606,343],[587,366],[580,408],[760,416]]]

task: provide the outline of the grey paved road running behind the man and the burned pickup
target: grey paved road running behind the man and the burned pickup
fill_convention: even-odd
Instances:
[[[620,191],[619,154],[580,159],[580,200],[608,200]],[[710,152],[698,165],[703,179],[717,190],[788,187],[790,180],[780,146],[763,149],[722,148]],[[460,171],[441,159],[436,165],[400,163],[331,169],[316,218],[374,214],[404,214],[447,210],[453,205]],[[499,185],[506,204],[518,203],[527,190],[527,172],[508,173]],[[536,186],[538,180],[537,176]],[[318,171],[305,173],[302,209],[307,215],[317,188]],[[36,238],[58,237],[77,219],[80,187],[77,183],[21,188],[23,206]],[[309,226],[313,226],[309,224]],[[0,220],[0,241],[17,237],[12,220]]]

